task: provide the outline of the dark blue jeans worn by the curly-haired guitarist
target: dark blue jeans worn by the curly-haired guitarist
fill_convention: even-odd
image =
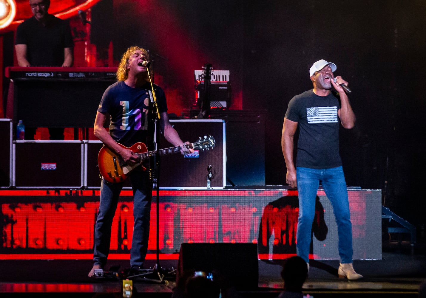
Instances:
[[[129,178],[133,190],[133,238],[130,249],[130,266],[142,266],[148,250],[150,236],[150,211],[152,183],[148,171],[138,169],[130,172]],[[102,179],[101,199],[95,226],[95,247],[93,261],[95,265],[105,266],[111,243],[111,226],[118,198],[124,183],[109,183]]]

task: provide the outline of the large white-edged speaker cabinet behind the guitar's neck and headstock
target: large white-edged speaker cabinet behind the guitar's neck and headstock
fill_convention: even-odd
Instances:
[[[224,120],[170,120],[181,140],[196,142],[200,137],[211,135],[216,146],[208,151],[196,150],[192,157],[179,153],[163,155],[160,160],[158,185],[160,189],[207,189],[209,166],[213,178],[212,189],[223,189],[226,185],[226,150]],[[157,140],[159,149],[168,148],[170,143],[162,134]]]

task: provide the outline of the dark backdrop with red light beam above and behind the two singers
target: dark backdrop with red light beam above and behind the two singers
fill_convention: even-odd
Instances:
[[[348,185],[382,189],[384,206],[423,229],[425,12],[423,0],[102,0],[90,40],[100,57],[112,41],[116,61],[128,46],[149,49],[161,85],[177,88],[186,109],[194,69],[230,70],[233,100],[267,110],[266,185],[285,184],[288,102],[312,88],[315,61],[335,63],[357,115],[341,131]]]

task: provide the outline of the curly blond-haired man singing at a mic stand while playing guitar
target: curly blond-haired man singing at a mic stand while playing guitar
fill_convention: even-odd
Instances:
[[[151,88],[148,76],[149,59],[148,52],[137,46],[130,47],[123,54],[117,69],[118,82],[105,90],[93,129],[95,136],[105,146],[118,154],[124,163],[131,166],[138,164],[138,155],[118,143],[131,147],[135,143],[142,142],[153,150],[154,120],[157,116],[153,92],[155,92],[160,115],[158,127],[164,138],[174,146],[181,146],[182,154],[194,152],[193,149],[184,146],[189,142],[183,142],[170,124],[163,89],[155,84],[153,84],[154,90]],[[104,128],[105,123],[109,123],[109,131]],[[129,173],[129,179],[133,190],[134,225],[130,249],[130,274],[133,275],[139,273],[147,254],[153,183],[150,181],[148,171],[142,171],[141,165]],[[89,277],[95,274],[95,269],[102,269],[107,263],[112,220],[123,184],[124,182],[110,183],[102,179],[95,226],[94,264]]]

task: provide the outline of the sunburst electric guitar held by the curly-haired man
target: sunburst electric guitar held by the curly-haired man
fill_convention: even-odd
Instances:
[[[98,166],[99,172],[101,172],[102,177],[105,178],[106,181],[111,183],[118,183],[126,180],[130,171],[135,169],[137,166],[142,165],[145,160],[148,160],[151,156],[157,154],[157,150],[148,151],[147,146],[144,143],[135,143],[131,147],[126,147],[121,144],[118,144],[123,148],[127,148],[132,150],[133,152],[138,154],[138,163],[130,166],[124,163],[124,160],[120,155],[111,151],[107,146],[103,146],[98,154]],[[198,150],[209,150],[216,146],[216,141],[212,136],[204,138],[199,138],[196,142],[185,145],[188,149],[198,149]],[[160,156],[172,154],[172,153],[180,153],[181,146],[164,148],[158,150],[158,154]],[[142,165],[142,169],[146,170],[146,168]]]

